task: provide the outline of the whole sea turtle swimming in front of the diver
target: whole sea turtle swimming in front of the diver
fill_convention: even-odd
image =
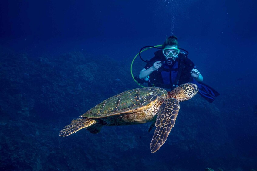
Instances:
[[[171,92],[159,87],[128,90],[104,100],[81,115],[81,118],[73,119],[59,135],[68,136],[83,128],[90,133],[99,133],[103,125],[153,122],[148,132],[156,126],[150,144],[151,152],[154,153],[165,143],[174,127],[179,102],[190,99],[197,92],[197,85],[192,83],[182,84]]]

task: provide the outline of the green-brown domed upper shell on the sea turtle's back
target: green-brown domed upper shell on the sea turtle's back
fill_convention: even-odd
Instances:
[[[104,100],[80,117],[103,118],[144,111],[149,103],[154,103],[159,97],[167,97],[167,91],[159,87],[128,90]]]

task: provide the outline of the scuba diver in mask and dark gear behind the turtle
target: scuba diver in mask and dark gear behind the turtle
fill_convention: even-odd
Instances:
[[[217,97],[219,93],[202,83],[203,76],[194,63],[187,58],[188,52],[184,49],[181,50],[186,53],[180,51],[176,36],[168,37],[162,44],[162,48],[158,49],[160,50],[154,53],[155,56],[150,61],[145,61],[147,64],[140,71],[139,78],[134,77],[138,83],[147,83],[149,87],[155,86],[173,90],[181,84],[191,82],[198,85],[198,94],[210,103],[214,101],[214,97]]]

